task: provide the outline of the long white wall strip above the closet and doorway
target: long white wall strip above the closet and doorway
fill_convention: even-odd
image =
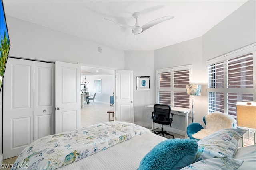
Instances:
[[[123,69],[123,51],[6,16],[10,56]],[[102,53],[98,52],[102,47]],[[115,61],[115,62],[113,62]]]

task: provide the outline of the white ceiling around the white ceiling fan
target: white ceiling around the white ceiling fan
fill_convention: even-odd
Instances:
[[[155,50],[202,36],[246,1],[99,1],[99,0],[4,0],[6,15],[121,50]],[[140,26],[163,16],[174,16],[140,34],[104,18]]]

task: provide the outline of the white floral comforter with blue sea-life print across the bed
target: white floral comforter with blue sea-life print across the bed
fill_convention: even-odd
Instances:
[[[53,170],[150,131],[127,122],[106,122],[42,137],[27,146],[12,169]]]

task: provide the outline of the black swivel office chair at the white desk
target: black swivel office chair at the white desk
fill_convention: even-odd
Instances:
[[[171,107],[169,105],[165,104],[155,104],[154,105],[154,111],[152,112],[152,119],[154,123],[162,124],[161,131],[154,131],[155,134],[162,134],[164,137],[164,134],[170,135],[174,139],[174,135],[171,135],[170,133],[167,133],[167,131],[164,131],[163,125],[170,125],[172,124],[172,117],[170,117],[170,114],[173,117],[173,113],[171,113]]]

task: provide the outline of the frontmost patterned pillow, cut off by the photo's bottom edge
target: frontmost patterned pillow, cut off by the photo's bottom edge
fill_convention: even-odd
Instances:
[[[243,164],[243,162],[243,160],[232,158],[211,158],[198,161],[181,170],[236,170]]]

